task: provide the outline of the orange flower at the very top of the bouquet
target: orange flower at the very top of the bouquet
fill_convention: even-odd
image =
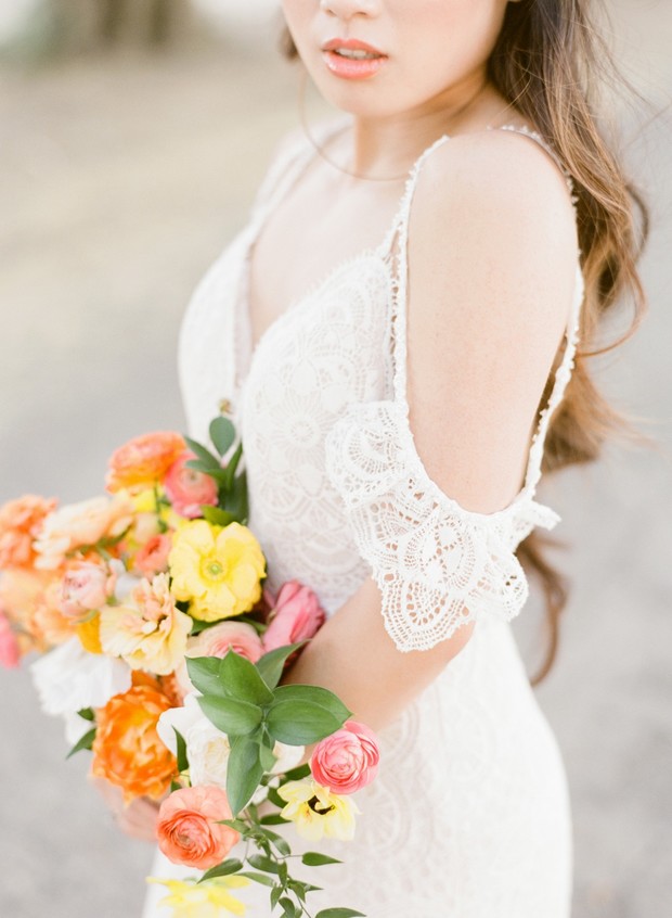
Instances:
[[[105,485],[114,493],[128,488],[137,493],[163,480],[175,460],[186,449],[184,439],[172,431],[142,434],[112,454]]]

